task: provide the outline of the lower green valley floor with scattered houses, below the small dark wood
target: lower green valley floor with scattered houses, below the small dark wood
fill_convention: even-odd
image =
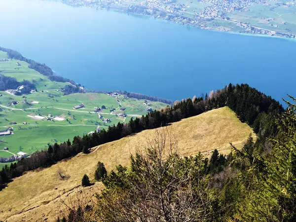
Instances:
[[[166,106],[160,102],[132,99],[112,92],[63,96],[61,89],[32,90],[27,94],[22,93],[22,89],[23,87],[19,86],[17,89],[8,89],[0,94],[0,111],[5,120],[4,124],[0,124],[2,163],[27,157],[36,150],[46,149],[48,144],[63,142],[68,137],[91,135],[107,129],[109,125],[124,123],[131,118],[141,117],[153,109]],[[46,139],[45,132],[43,133],[43,130],[40,132],[40,128],[44,127],[57,129],[57,133],[52,132],[48,135],[55,139],[50,141]],[[60,130],[65,132],[64,135],[59,133]],[[70,134],[66,133],[67,131]],[[31,134],[38,135],[40,141],[34,147],[26,147],[19,139],[24,137],[23,133],[28,135],[28,141],[31,139]],[[41,139],[44,136],[45,138]]]

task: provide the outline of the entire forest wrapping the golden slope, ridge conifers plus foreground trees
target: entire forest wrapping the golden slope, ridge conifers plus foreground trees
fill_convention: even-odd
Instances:
[[[242,149],[231,145],[233,152],[227,156],[215,150],[210,159],[201,154],[184,159],[176,151],[174,138],[170,138],[169,149],[163,149],[165,142],[159,136],[148,143],[146,152],[131,157],[130,168],[118,166],[103,177],[107,188],[99,196],[98,205],[82,204],[78,211],[70,208],[69,218],[63,221],[89,221],[88,217],[91,221],[293,221],[294,149],[291,148],[295,146],[296,108],[290,105],[289,111],[285,111],[279,102],[247,84],[229,84],[204,98],[176,101],[172,107],[132,118],[129,123],[118,123],[82,138],[76,136],[72,142],[56,143],[47,151],[38,151],[3,168],[0,182],[5,188],[11,179],[26,171],[48,167],[81,151],[87,154],[89,148],[225,106],[254,129],[256,142],[250,137]],[[262,196],[271,198],[268,207],[259,198],[263,187],[266,191]],[[244,211],[248,213],[243,214]]]

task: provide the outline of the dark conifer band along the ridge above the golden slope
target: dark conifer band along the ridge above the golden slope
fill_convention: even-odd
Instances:
[[[224,89],[210,93],[205,98],[188,98],[176,102],[174,106],[161,111],[149,112],[141,118],[131,119],[129,123],[118,123],[109,126],[92,135],[84,135],[82,138],[75,136],[73,141],[49,146],[48,151],[37,151],[30,158],[22,159],[18,163],[11,164],[0,171],[0,184],[7,184],[12,178],[22,175],[25,171],[34,170],[38,167],[46,167],[65,158],[89,148],[105,144],[145,129],[154,129],[166,126],[180,119],[201,114],[205,111],[228,106],[239,116],[241,121],[246,121],[259,133],[259,141],[276,134],[275,116],[284,111],[279,102],[262,94],[247,84],[233,86],[229,84]],[[260,142],[263,143],[263,142]]]

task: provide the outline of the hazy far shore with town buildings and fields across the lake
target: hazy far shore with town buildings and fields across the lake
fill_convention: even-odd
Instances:
[[[292,16],[292,14],[296,15],[296,5],[293,2],[195,1],[63,0],[62,2],[77,7],[87,6],[97,10],[111,9],[127,14],[148,15],[152,18],[205,30],[296,38],[296,19]],[[282,16],[286,15],[292,17],[284,19]]]

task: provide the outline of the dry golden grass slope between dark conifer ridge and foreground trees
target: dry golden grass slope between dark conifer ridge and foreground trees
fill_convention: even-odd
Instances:
[[[226,154],[230,150],[229,142],[242,147],[248,136],[254,135],[252,129],[241,123],[227,107],[183,119],[168,126],[167,130],[175,135],[181,155],[194,155],[201,151],[208,156],[215,148]],[[148,138],[154,136],[155,130],[146,130],[93,148],[89,154],[78,154],[70,160],[16,178],[0,191],[0,221],[55,221],[58,215],[66,213],[62,201],[69,204],[82,189],[86,196],[100,191],[100,183],[81,187],[84,174],[93,180],[98,161],[103,162],[108,171],[118,164],[128,165],[130,154],[135,153],[137,147],[144,147]],[[70,178],[60,180],[59,169]]]

